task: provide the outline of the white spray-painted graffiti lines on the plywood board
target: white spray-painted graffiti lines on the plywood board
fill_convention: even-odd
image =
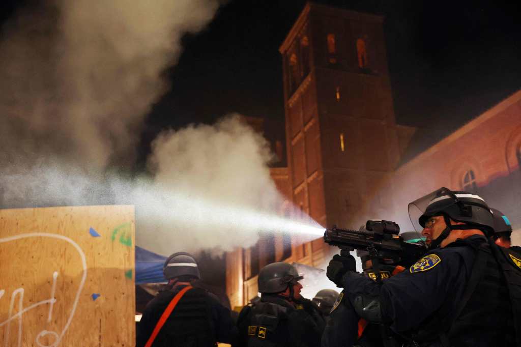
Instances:
[[[69,329],[69,326],[71,324],[72,318],[74,317],[74,314],[76,312],[76,307],[78,306],[78,301],[80,300],[80,294],[81,294],[81,291],[83,289],[83,286],[85,284],[85,280],[86,280],[86,277],[87,277],[87,262],[86,262],[86,259],[85,259],[85,253],[83,253],[83,251],[80,248],[80,246],[75,241],[73,241],[73,240],[71,240],[68,237],[63,236],[63,235],[52,234],[52,233],[47,233],[47,232],[31,232],[31,233],[19,234],[19,235],[11,236],[11,237],[8,237],[8,238],[2,238],[2,239],[0,239],[0,243],[20,240],[20,239],[35,238],[35,237],[59,239],[59,240],[63,240],[65,242],[70,243],[78,251],[78,254],[80,255],[80,258],[81,258],[81,264],[82,264],[82,267],[83,267],[83,274],[81,276],[81,281],[80,281],[80,284],[79,284],[79,287],[78,287],[78,291],[76,293],[76,297],[75,297],[74,302],[72,304],[72,308],[70,310],[70,314],[69,314],[69,318],[67,319],[67,323],[65,324],[63,330],[61,330],[61,333],[58,335],[58,333],[56,333],[54,331],[42,330],[36,336],[35,342],[36,342],[36,344],[38,346],[40,346],[40,347],[56,347],[61,342],[61,340],[63,339],[67,329]],[[13,295],[11,296],[11,303],[10,303],[10,308],[9,308],[9,316],[8,316],[7,320],[5,320],[3,322],[0,322],[0,327],[2,327],[2,326],[7,324],[7,327],[6,327],[7,331],[4,334],[4,345],[6,347],[8,346],[7,344],[9,343],[9,330],[10,330],[9,328],[10,328],[11,320],[18,318],[18,346],[21,346],[22,316],[23,316],[23,314],[26,313],[27,311],[30,311],[31,309],[33,309],[36,306],[40,306],[40,305],[49,303],[49,304],[51,304],[51,308],[49,308],[49,316],[51,315],[52,307],[53,307],[54,303],[56,302],[56,299],[54,298],[54,291],[55,291],[55,288],[56,288],[55,286],[56,286],[56,278],[57,277],[58,277],[58,272],[55,271],[53,273],[53,289],[51,290],[51,299],[37,302],[37,303],[35,303],[35,304],[25,308],[25,309],[23,309],[23,307],[22,307],[23,288],[18,288],[18,289],[16,289],[13,292]],[[18,304],[18,313],[13,315],[13,306],[14,306],[16,294],[18,294],[18,293],[21,293],[20,299],[19,299],[19,304]],[[40,338],[42,338],[45,335],[49,335],[49,334],[53,335],[56,338],[56,340],[53,342],[53,344],[45,345],[45,344],[40,343]]]

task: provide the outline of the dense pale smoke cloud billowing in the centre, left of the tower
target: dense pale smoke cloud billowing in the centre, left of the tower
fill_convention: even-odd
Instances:
[[[135,196],[137,243],[162,254],[253,245],[266,226],[257,216],[276,215],[282,203],[271,159],[266,140],[238,115],[160,134],[150,157],[154,196],[144,204],[150,190]]]

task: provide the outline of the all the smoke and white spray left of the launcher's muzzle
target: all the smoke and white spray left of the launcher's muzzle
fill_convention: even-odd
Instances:
[[[219,1],[35,4],[2,28],[0,203],[6,207],[133,204],[137,244],[151,251],[231,250],[259,231],[320,236],[280,216],[266,141],[238,115],[165,131],[147,172],[135,163],[143,121],[169,88],[181,38]],[[171,110],[175,117],[175,110]]]

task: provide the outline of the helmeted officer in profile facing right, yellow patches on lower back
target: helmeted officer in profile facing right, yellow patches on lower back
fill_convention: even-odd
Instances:
[[[310,300],[302,298],[303,277],[288,263],[272,263],[259,271],[261,300],[239,314],[240,345],[311,347],[320,345],[324,321]],[[318,317],[317,317],[318,315]]]

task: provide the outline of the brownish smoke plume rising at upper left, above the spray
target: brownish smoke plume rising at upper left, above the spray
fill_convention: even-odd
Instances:
[[[0,163],[132,163],[143,118],[168,88],[160,75],[182,35],[203,29],[218,5],[57,0],[24,9],[0,43]]]

